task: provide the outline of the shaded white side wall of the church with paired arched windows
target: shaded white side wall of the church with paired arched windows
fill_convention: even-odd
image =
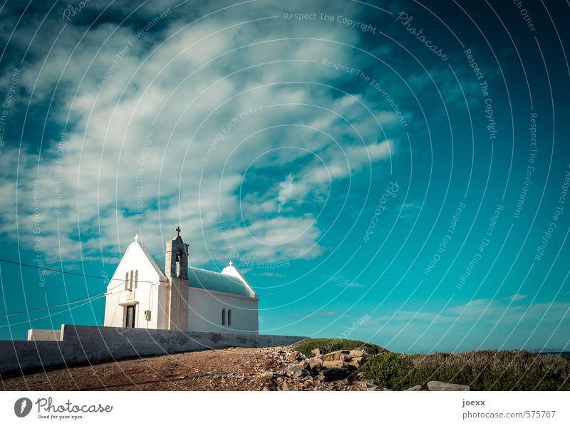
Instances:
[[[215,291],[188,289],[188,330],[219,333],[255,333],[259,331],[257,320],[258,301],[242,296],[229,296]],[[232,325],[222,326],[222,309],[232,310]]]

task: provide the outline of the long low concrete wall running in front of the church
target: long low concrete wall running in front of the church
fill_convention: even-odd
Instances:
[[[0,341],[0,373],[190,350],[284,346],[300,336],[61,326],[61,341]]]

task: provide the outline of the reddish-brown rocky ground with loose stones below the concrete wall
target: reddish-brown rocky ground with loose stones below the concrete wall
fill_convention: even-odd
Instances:
[[[383,390],[361,350],[306,357],[291,346],[202,350],[2,377],[4,390]]]

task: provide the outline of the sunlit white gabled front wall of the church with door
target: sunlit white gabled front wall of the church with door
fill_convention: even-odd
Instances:
[[[137,288],[125,290],[125,274],[138,270]],[[162,281],[166,281],[162,277]],[[161,285],[162,284],[162,285]],[[135,327],[137,328],[166,328],[166,318],[163,308],[159,309],[159,301],[164,301],[166,282],[161,283],[161,276],[147,258],[142,246],[134,242],[128,246],[121,259],[113,279],[107,286],[105,298],[105,326],[125,326],[125,306],[135,304]],[[145,311],[150,310],[150,321],[145,319]]]

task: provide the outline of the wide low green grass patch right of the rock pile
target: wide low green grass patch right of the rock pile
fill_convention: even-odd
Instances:
[[[439,380],[471,390],[570,390],[570,358],[524,350],[406,355],[379,353],[363,366],[364,378],[393,390],[427,389]]]

